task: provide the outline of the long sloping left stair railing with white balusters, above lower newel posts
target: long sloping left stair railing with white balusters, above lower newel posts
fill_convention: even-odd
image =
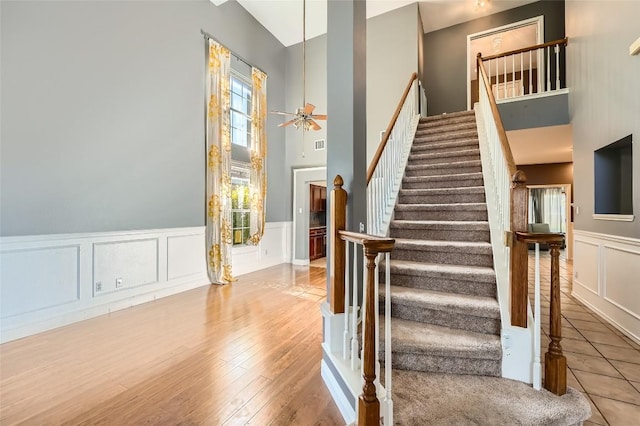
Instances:
[[[389,229],[420,120],[418,86],[413,73],[367,170],[367,231],[372,235],[387,235]]]

